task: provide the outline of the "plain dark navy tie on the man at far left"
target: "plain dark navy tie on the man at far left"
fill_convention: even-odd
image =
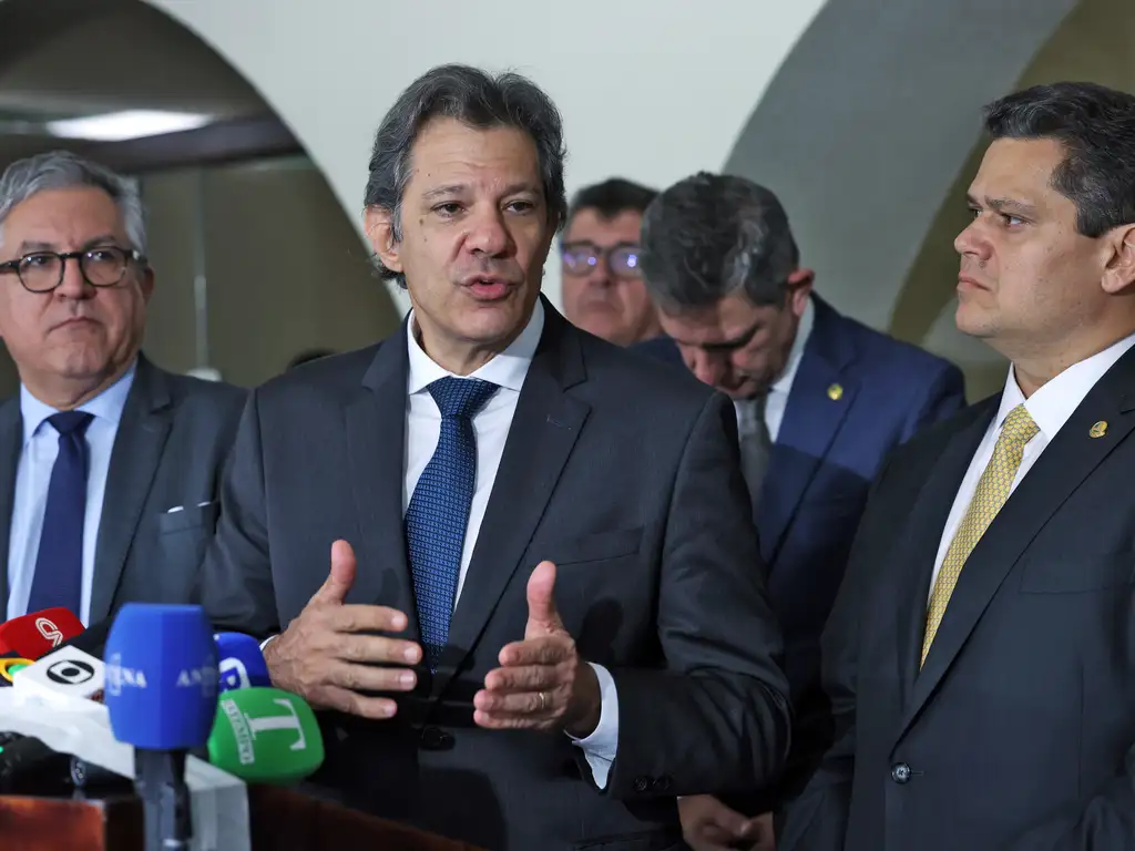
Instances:
[[[62,606],[82,616],[83,523],[86,519],[86,427],[92,415],[64,411],[48,418],[59,432],[59,455],[51,467],[40,551],[27,600],[28,612]]]

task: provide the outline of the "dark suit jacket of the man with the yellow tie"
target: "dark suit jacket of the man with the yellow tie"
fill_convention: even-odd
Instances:
[[[1135,848],[1133,387],[1135,351],[974,548],[920,672],[939,544],[999,399],[894,455],[824,637],[839,738],[781,848]]]

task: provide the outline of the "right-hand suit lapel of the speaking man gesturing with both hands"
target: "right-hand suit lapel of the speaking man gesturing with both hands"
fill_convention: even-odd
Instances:
[[[545,303],[545,326],[524,379],[477,546],[434,679],[440,694],[477,643],[520,566],[556,480],[587,419],[588,406],[565,391],[583,381],[579,334]]]

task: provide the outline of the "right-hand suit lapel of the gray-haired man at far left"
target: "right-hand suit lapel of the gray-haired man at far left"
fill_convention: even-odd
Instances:
[[[150,495],[173,420],[165,373],[142,355],[110,453],[103,512],[94,549],[91,623],[110,614],[126,556]]]

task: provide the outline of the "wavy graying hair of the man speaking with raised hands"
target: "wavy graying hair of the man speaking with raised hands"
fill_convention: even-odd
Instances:
[[[364,203],[390,212],[394,239],[402,239],[402,200],[413,171],[411,152],[422,128],[435,118],[455,118],[470,127],[515,127],[531,136],[540,162],[548,221],[558,230],[568,214],[564,192],[563,121],[539,86],[519,74],[489,75],[466,65],[443,65],[415,79],[398,95],[375,136]],[[405,287],[398,272],[375,259],[379,277]]]

